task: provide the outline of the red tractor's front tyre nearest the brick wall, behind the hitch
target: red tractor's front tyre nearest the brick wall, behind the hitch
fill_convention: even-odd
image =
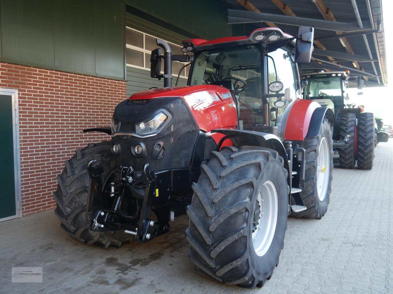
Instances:
[[[57,203],[55,214],[61,220],[60,225],[70,236],[89,245],[120,247],[123,242],[132,240],[122,231],[94,232],[86,220],[89,187],[87,163],[95,159],[96,164],[114,167],[111,155],[110,142],[90,143],[78,149],[70,160],[66,160],[66,167],[57,176],[58,185],[53,197]]]

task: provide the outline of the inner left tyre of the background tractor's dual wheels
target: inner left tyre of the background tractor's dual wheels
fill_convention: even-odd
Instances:
[[[354,113],[342,114],[340,123],[340,141],[344,141],[347,134],[351,135],[348,146],[338,149],[338,154],[340,154],[340,167],[343,169],[353,169],[355,166],[355,125],[356,115]]]

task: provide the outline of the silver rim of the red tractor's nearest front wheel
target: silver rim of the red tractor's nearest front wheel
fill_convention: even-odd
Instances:
[[[253,232],[252,243],[255,253],[263,256],[272,245],[275,227],[277,226],[278,198],[277,190],[272,181],[266,181],[257,196],[255,209],[260,209],[259,213],[252,216]]]

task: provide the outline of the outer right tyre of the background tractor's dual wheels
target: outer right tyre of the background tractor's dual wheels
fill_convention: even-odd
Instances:
[[[358,168],[372,169],[374,161],[374,115],[361,113],[358,123]]]

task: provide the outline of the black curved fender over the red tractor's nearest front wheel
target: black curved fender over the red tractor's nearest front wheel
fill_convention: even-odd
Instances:
[[[224,140],[227,136],[232,141],[233,146],[240,148],[241,146],[258,146],[273,149],[278,152],[279,156],[284,159],[284,167],[288,172],[288,185],[290,185],[291,171],[289,170],[288,157],[286,155],[285,147],[280,138],[274,134],[268,134],[264,132],[253,132],[244,130],[230,130],[230,129],[215,129],[211,132],[217,132],[224,134],[221,140]],[[220,141],[221,142],[221,141]],[[224,141],[222,141],[224,142]],[[217,146],[220,148],[221,146]]]

